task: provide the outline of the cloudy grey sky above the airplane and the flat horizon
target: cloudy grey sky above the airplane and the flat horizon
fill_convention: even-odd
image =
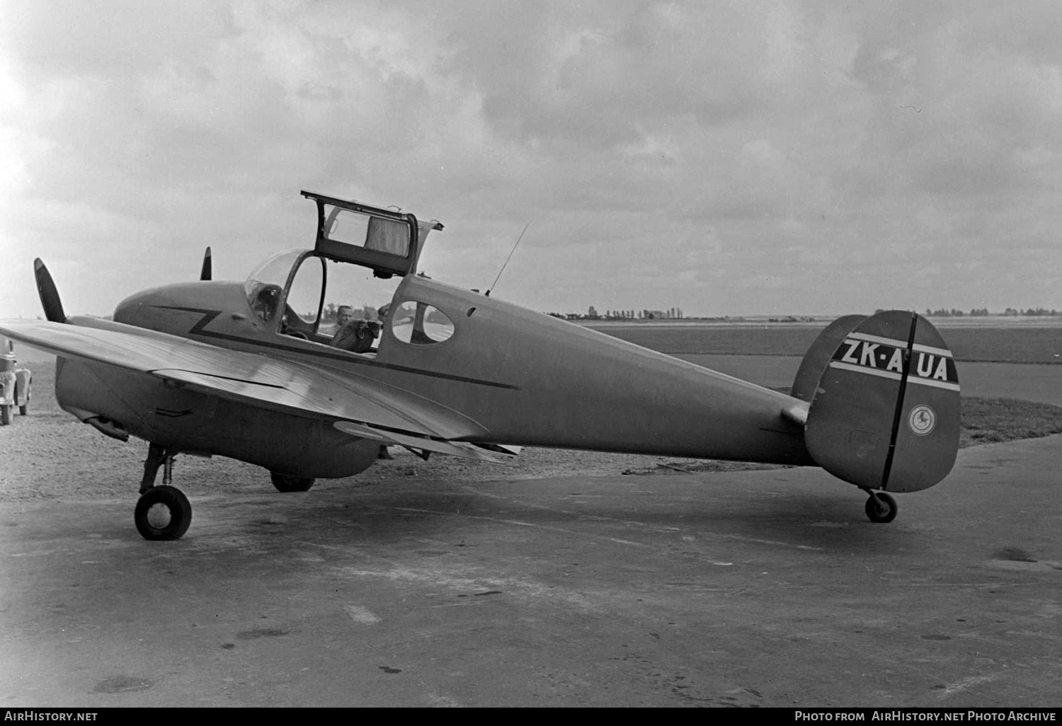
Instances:
[[[0,2],[0,317],[243,279],[303,189],[535,310],[1062,309],[1056,0]]]

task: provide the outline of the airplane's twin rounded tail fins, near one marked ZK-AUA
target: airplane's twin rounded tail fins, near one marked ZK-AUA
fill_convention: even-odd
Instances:
[[[803,399],[810,400],[808,453],[864,489],[928,488],[952,470],[959,448],[959,377],[952,352],[915,313],[854,317],[839,318],[820,334],[793,383],[794,396],[807,395],[805,364],[822,365],[818,385]],[[823,364],[823,350],[838,339]]]

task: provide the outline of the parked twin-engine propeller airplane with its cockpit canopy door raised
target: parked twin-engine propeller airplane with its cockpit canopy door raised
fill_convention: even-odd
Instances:
[[[56,355],[64,410],[148,442],[134,512],[147,539],[177,539],[191,522],[172,485],[181,453],[261,466],[280,491],[355,476],[387,446],[425,459],[536,446],[819,466],[867,492],[872,522],[895,518],[892,494],[933,486],[955,463],[955,359],[914,312],[834,321],[787,395],[433,280],[417,262],[441,223],[302,195],[316,205],[313,247],[243,281],[211,279],[207,248],[198,281],[133,294],[109,319],[67,317],[37,259],[47,321],[0,321],[0,334]],[[396,286],[378,343],[331,345],[336,302],[377,283]]]

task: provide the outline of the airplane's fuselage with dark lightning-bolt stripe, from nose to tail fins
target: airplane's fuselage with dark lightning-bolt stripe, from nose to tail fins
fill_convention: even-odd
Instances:
[[[404,304],[441,312],[445,339],[396,336]],[[402,279],[391,310],[372,353],[280,332],[239,282],[144,291],[114,319],[398,386],[474,419],[483,443],[812,463],[784,394],[424,276]]]

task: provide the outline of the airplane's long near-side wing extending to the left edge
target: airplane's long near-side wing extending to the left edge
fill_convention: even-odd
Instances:
[[[485,451],[462,442],[489,433],[452,409],[356,373],[229,350],[178,335],[100,318],[0,321],[0,334],[65,358],[114,365],[177,381],[221,398],[302,416],[350,424],[356,436],[474,459]],[[441,446],[445,444],[446,446]],[[440,445],[440,446],[435,446]]]

